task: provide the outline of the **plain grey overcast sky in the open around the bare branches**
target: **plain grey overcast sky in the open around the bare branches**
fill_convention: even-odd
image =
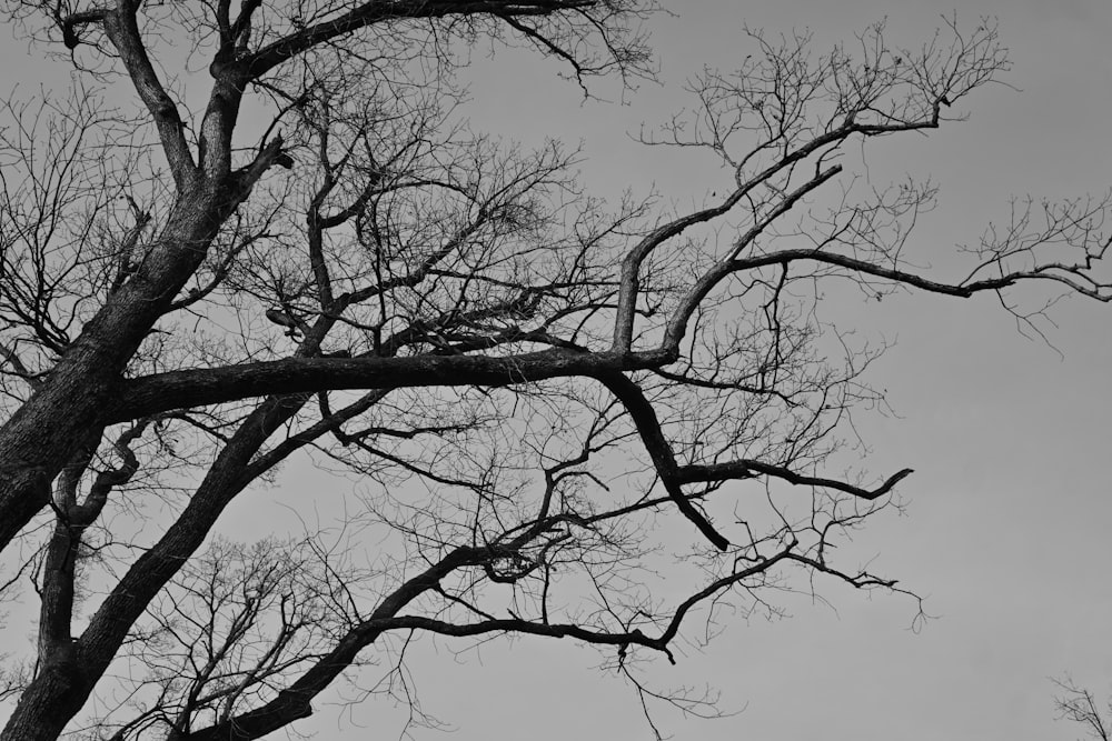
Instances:
[[[588,189],[645,193],[655,184],[678,203],[695,202],[727,173],[626,134],[685,106],[683,82],[704,63],[728,69],[749,53],[743,24],[811,28],[822,48],[887,17],[890,36],[913,44],[954,10],[924,0],[667,4],[678,17],[651,23],[661,86],[643,86],[625,106],[584,104],[550,64],[509,53],[478,59],[476,128],[582,139]],[[871,162],[877,178],[910,172],[941,184],[940,208],[913,239],[937,264],[989,221],[1006,219],[1013,194],[1061,199],[1112,184],[1106,0],[983,0],[957,10],[966,23],[999,19],[1014,63],[1005,80],[1015,89],[980,91],[967,99],[970,121],[885,148],[884,160]],[[722,691],[723,710],[741,711],[711,722],[663,712],[662,730],[706,740],[1078,738],[1080,728],[1053,720],[1049,678],[1070,671],[1112,693],[1112,307],[1059,306],[1049,334],[1056,350],[1019,334],[992,297],[896,297],[883,311],[846,316],[896,343],[871,380],[887,389],[900,418],[863,420],[865,465],[877,475],[916,471],[901,484],[906,515],[876,518],[846,553],[875,557],[875,568],[925,595],[937,619],[912,632],[907,600],[833,583],[821,590],[831,605],[786,599],[788,618],[737,620],[705,653],[655,665],[658,687],[706,683]],[[255,504],[237,503],[232,522]],[[451,648],[425,645],[411,664],[425,710],[458,729],[444,738],[648,738],[635,694],[597,671],[592,651],[537,640],[458,657]],[[368,702],[340,721],[325,713],[298,728],[321,739],[391,739],[403,722],[401,709]]]

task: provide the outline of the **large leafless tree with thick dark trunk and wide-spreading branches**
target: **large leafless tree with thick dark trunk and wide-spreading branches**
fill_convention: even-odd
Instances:
[[[882,397],[822,287],[995,293],[1022,321],[1019,283],[1106,301],[1108,203],[1020,204],[955,279],[905,257],[933,187],[862,183],[844,152],[960,119],[1007,66],[987,23],[905,50],[880,26],[822,52],[753,32],[645,137],[726,166],[689,213],[607,206],[559,142],[463,123],[470,46],[589,91],[652,74],[651,10],[14,4],[89,87],[13,104],[0,142],[0,544],[39,605],[0,738],[257,739],[420,634],[573,639],[648,703],[634,659],[674,660],[688,622],[795,578],[902,591],[834,559],[910,471],[824,470]],[[211,541],[297,459],[360,482],[341,549]],[[659,598],[666,571],[685,597]]]

